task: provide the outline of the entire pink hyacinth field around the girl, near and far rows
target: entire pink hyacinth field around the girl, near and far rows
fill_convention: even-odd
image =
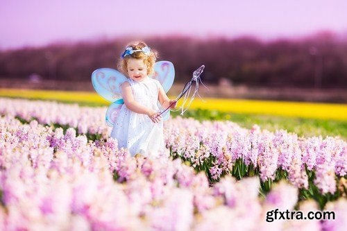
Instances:
[[[159,159],[108,138],[105,107],[0,98],[0,230],[343,230],[347,144],[176,117]],[[266,221],[274,209],[335,219]]]

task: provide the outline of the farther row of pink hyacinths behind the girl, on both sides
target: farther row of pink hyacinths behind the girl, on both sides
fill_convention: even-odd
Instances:
[[[58,123],[103,139],[110,134],[104,121],[106,108],[12,99],[0,99],[0,105],[1,114]],[[171,155],[205,171],[210,182],[226,175],[260,176],[263,191],[268,191],[273,180],[285,178],[309,198],[319,194],[337,198],[346,191],[347,144],[339,137],[305,138],[286,130],[269,132],[256,125],[248,130],[230,121],[201,123],[182,117],[164,123],[164,137]]]

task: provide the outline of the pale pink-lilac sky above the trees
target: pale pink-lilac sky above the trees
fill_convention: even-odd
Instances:
[[[0,49],[121,35],[347,33],[346,0],[0,0]]]

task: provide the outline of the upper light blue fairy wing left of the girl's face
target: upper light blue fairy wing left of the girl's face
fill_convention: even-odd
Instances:
[[[121,84],[126,80],[126,76],[115,69],[100,68],[92,73],[95,91],[111,102],[121,99]]]

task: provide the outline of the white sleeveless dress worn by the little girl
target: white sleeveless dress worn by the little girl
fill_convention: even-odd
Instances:
[[[147,77],[142,82],[128,78],[137,103],[159,112],[158,95],[160,82]],[[130,155],[137,153],[146,157],[158,157],[164,151],[163,121],[154,123],[146,114],[138,114],[121,106],[111,137],[117,139],[118,148],[127,148]]]

